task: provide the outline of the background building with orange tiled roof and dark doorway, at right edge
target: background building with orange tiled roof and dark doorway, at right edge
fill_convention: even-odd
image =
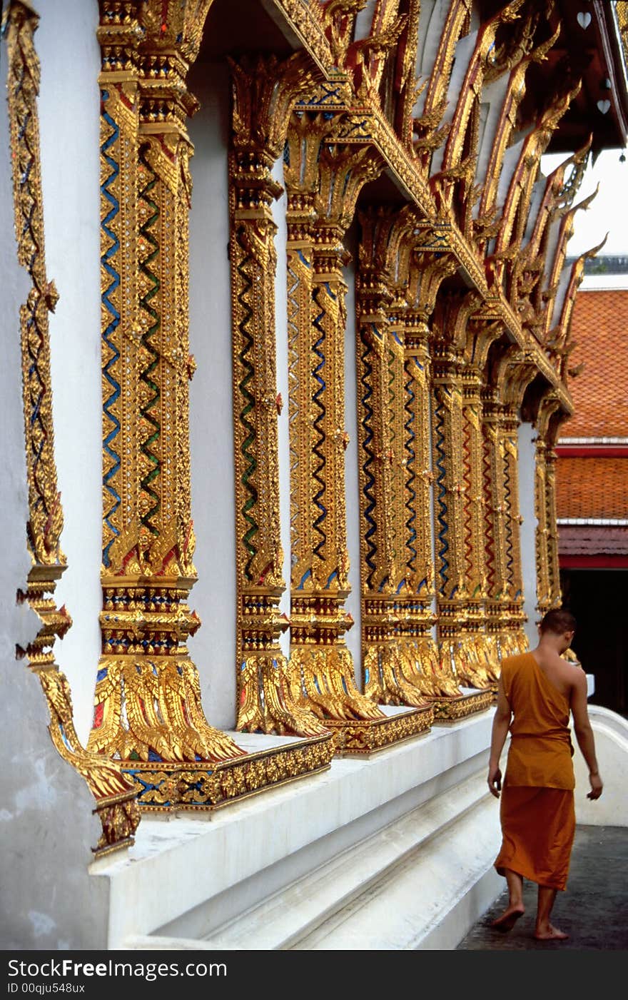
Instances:
[[[585,265],[572,319],[574,412],[556,444],[561,591],[592,703],[628,716],[628,258]]]

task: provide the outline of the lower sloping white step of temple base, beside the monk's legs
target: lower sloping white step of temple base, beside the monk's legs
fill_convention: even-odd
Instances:
[[[210,935],[129,938],[199,950],[452,948],[502,887],[498,808],[474,774]],[[488,835],[490,834],[490,835]]]

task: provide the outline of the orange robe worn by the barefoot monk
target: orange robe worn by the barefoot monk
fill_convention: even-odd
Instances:
[[[564,889],[576,830],[569,702],[532,653],[506,657],[501,677],[513,719],[495,868]]]

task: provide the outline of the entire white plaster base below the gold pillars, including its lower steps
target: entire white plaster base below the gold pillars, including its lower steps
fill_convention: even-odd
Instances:
[[[356,947],[373,923],[366,896],[386,907],[390,892],[404,897],[401,913],[411,897],[421,904],[403,930],[376,918],[369,947],[454,947],[501,888],[486,878],[499,846],[485,784],[492,717],[441,725],[368,760],[334,759],[207,816],[145,815],[126,857],[91,866],[109,883],[109,948],[328,948],[308,935],[361,900],[360,929],[341,921],[353,943],[333,945]]]

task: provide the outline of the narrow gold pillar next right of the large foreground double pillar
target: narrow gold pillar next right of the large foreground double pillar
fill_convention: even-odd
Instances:
[[[279,464],[275,341],[276,227],[270,206],[281,193],[271,170],[282,154],[292,105],[313,75],[300,55],[232,64],[233,140],[230,154],[234,429],[236,460],[236,545],[238,584],[238,721],[244,731],[313,736],[326,729],[306,700],[299,704],[279,636],[291,624],[279,613],[285,589],[279,523]],[[317,169],[316,167],[314,168]],[[291,198],[289,191],[289,198]],[[313,270],[307,205],[296,239],[290,201],[289,273],[295,275],[301,322],[310,326]],[[298,214],[298,213],[297,213]],[[305,289],[305,290],[304,290]],[[293,338],[294,318],[290,320]],[[298,326],[298,323],[297,323]],[[294,344],[291,344],[291,357]],[[291,361],[291,365],[293,362]],[[295,371],[292,367],[292,376]],[[294,406],[294,403],[291,404]],[[292,412],[291,451],[294,451]],[[307,432],[304,431],[307,439]],[[338,442],[334,441],[336,447]],[[311,443],[307,440],[307,446]],[[303,461],[307,462],[304,449]],[[309,475],[306,486],[309,486]],[[292,489],[295,487],[293,476]],[[323,617],[330,614],[322,610]],[[333,614],[333,612],[332,612]]]

